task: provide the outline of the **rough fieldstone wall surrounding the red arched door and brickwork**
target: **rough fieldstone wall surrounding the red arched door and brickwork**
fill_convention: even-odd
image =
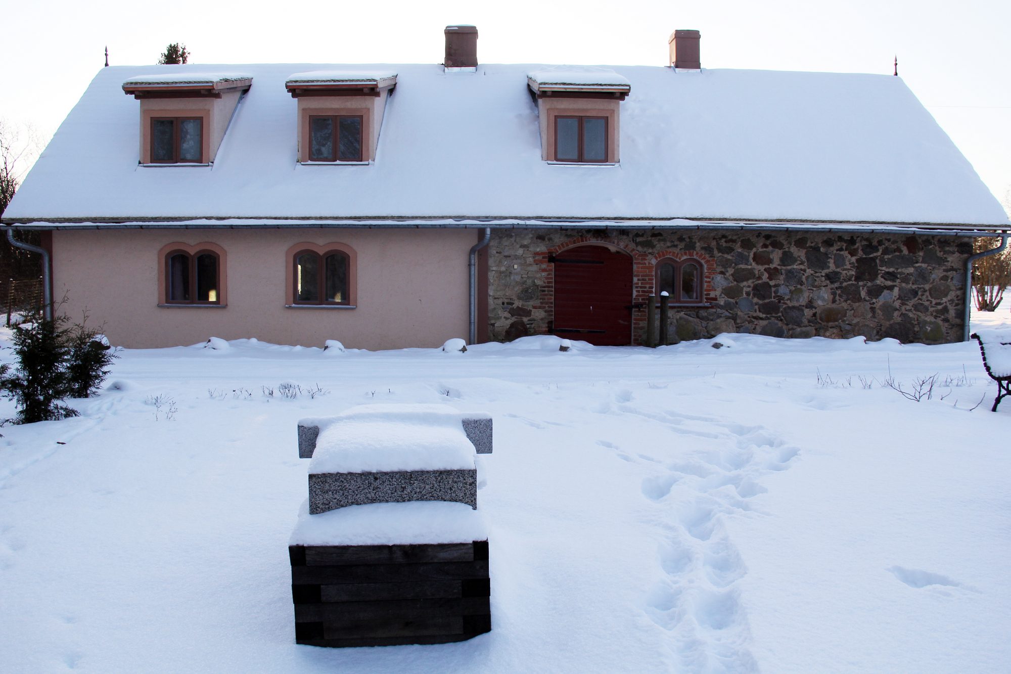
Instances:
[[[656,262],[706,265],[704,307],[671,306],[672,341],[721,332],[773,337],[892,337],[959,341],[972,239],[811,232],[492,231],[488,336],[510,341],[551,331],[554,279],[548,256],[602,243],[632,255],[635,298],[653,288]],[[645,309],[633,315],[643,342]]]

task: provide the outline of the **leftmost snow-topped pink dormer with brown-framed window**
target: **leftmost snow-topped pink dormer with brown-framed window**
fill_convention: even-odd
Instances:
[[[238,73],[174,72],[123,82],[141,101],[141,164],[212,164],[239,99],[253,78]]]

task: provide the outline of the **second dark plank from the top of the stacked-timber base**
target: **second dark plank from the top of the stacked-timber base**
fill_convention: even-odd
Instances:
[[[407,583],[411,581],[463,580],[467,578],[487,577],[487,561],[291,567],[292,585]]]

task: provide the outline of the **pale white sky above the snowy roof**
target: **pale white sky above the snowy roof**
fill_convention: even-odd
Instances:
[[[899,73],[1003,199],[1011,188],[1011,2],[5,2],[0,118],[48,139],[109,48],[152,64],[441,63],[443,28],[478,27],[484,63],[666,65],[674,28],[702,31],[704,68]]]

